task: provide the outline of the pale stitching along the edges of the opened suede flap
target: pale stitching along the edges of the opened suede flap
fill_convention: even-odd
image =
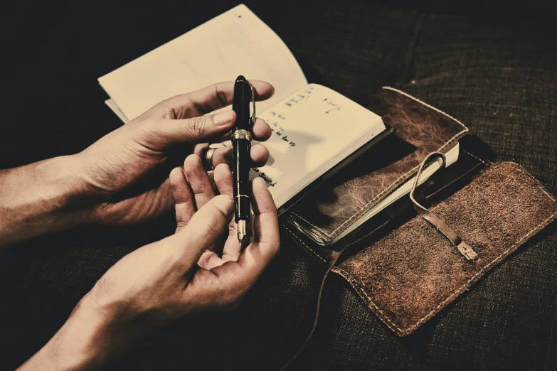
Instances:
[[[516,165],[513,162],[510,161],[505,161],[502,163],[512,163],[514,165]],[[493,166],[493,168],[497,168],[500,164],[502,163],[498,163],[497,165]],[[530,173],[528,173],[527,171],[525,171],[523,168],[520,168],[521,171],[523,171],[524,173],[526,173],[526,175],[530,176],[530,178],[534,179],[534,181],[536,181],[537,183],[539,183],[539,181],[534,178],[534,176],[532,176]],[[540,185],[538,185],[540,187]],[[541,187],[540,187],[541,188]],[[542,188],[543,190],[543,188]],[[543,193],[546,193],[546,195],[548,195],[548,193],[543,190]],[[553,202],[556,202],[556,200],[553,197],[549,197]],[[337,274],[340,274],[341,276],[343,276],[346,281],[349,281],[349,283],[354,286],[358,286],[357,288],[354,287],[354,289],[356,289],[356,291],[361,291],[364,292],[366,298],[368,299],[368,301],[373,305],[373,307],[375,307],[377,309],[377,311],[379,311],[378,316],[383,320],[383,322],[386,320],[388,321],[388,323],[393,324],[393,326],[398,330],[398,332],[401,335],[408,335],[409,333],[412,333],[413,330],[415,330],[416,328],[420,327],[422,325],[422,323],[424,323],[425,321],[428,321],[430,318],[432,318],[433,316],[435,316],[435,313],[437,313],[437,311],[439,311],[440,308],[442,308],[443,306],[445,306],[447,303],[450,303],[450,301],[452,301],[452,299],[455,299],[457,296],[459,296],[460,294],[462,294],[467,287],[470,287],[471,284],[473,284],[480,276],[483,276],[492,266],[494,266],[495,264],[498,264],[499,262],[502,262],[502,259],[504,257],[506,257],[507,255],[509,255],[511,253],[511,251],[514,251],[514,248],[517,247],[517,245],[521,244],[525,239],[528,239],[529,237],[531,237],[532,235],[536,234],[536,232],[539,232],[539,230],[543,229],[543,227],[546,227],[546,225],[549,224],[549,222],[551,222],[551,220],[555,219],[557,217],[557,212],[553,213],[552,215],[550,215],[546,220],[543,220],[543,222],[541,222],[541,224],[539,224],[537,227],[535,227],[533,230],[529,231],[528,233],[526,233],[526,235],[524,235],[523,237],[521,237],[519,240],[517,240],[516,242],[514,242],[514,244],[511,245],[511,247],[509,247],[509,249],[506,249],[504,252],[502,252],[502,254],[499,255],[499,257],[495,258],[492,260],[492,262],[489,262],[489,264],[487,264],[486,266],[484,266],[482,269],[480,269],[477,274],[474,274],[474,276],[472,276],[472,278],[470,278],[466,284],[463,284],[462,286],[460,286],[458,289],[456,289],[455,291],[452,291],[452,295],[450,295],[447,299],[445,299],[444,301],[442,301],[438,306],[436,306],[432,311],[430,311],[428,314],[426,314],[425,316],[423,316],[422,318],[420,318],[420,320],[416,323],[414,323],[412,326],[405,328],[404,330],[400,330],[400,328],[398,328],[397,326],[395,326],[393,324],[393,322],[391,322],[391,320],[389,318],[387,318],[383,312],[376,306],[375,303],[373,303],[373,301],[369,298],[368,294],[366,294],[366,291],[364,291],[364,282],[362,281],[361,284],[362,286],[359,286],[358,282],[356,282],[355,279],[349,279],[348,276],[349,274],[344,271],[344,269],[340,268],[340,267],[336,267],[334,269],[331,269],[332,271],[336,272]],[[343,271],[344,274],[341,274],[340,271]],[[388,327],[392,328],[391,326],[389,326],[387,324]]]

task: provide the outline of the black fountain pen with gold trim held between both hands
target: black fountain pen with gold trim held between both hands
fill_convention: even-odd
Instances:
[[[250,103],[253,114],[250,114]],[[235,205],[235,222],[238,224],[238,241],[242,244],[248,234],[251,198],[251,130],[255,122],[255,97],[253,87],[238,76],[234,82],[232,109],[236,112],[236,122],[232,129],[233,144],[233,188]]]

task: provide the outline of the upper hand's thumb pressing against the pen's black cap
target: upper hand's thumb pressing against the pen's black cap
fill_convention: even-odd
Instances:
[[[149,119],[144,122],[146,146],[158,151],[174,144],[203,143],[232,129],[236,114],[232,109],[191,119]]]

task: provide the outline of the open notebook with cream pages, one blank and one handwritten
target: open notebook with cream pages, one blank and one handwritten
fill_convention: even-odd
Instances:
[[[244,75],[275,96],[256,104],[272,129],[266,166],[255,168],[277,208],[386,130],[377,114],[322,85],[308,84],[285,43],[245,5],[99,78],[107,105],[127,122],[168,97]]]

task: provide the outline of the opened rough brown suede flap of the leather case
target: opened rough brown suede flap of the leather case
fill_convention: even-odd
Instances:
[[[477,252],[476,262],[417,216],[333,268],[400,336],[435,316],[554,220],[557,201],[524,168],[502,162],[488,165],[430,211]]]

